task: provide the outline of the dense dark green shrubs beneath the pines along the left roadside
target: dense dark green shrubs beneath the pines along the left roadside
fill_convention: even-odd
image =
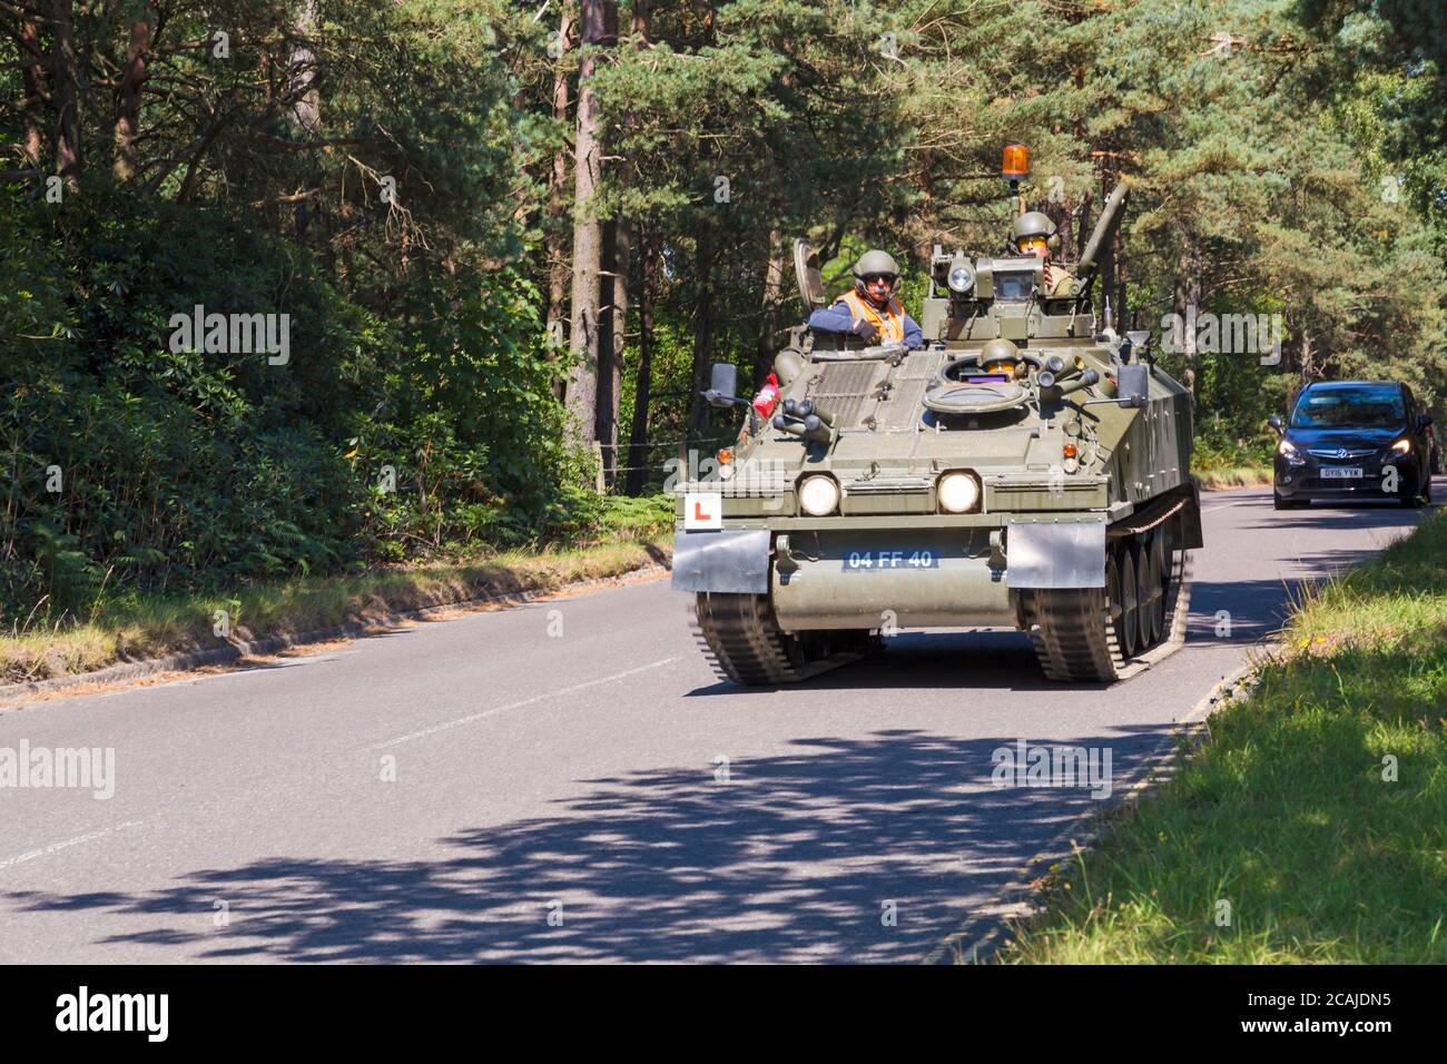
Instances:
[[[6,250],[35,249],[0,259],[7,617],[602,525],[514,271],[418,285],[398,326],[213,208],[98,180],[64,207],[7,195]],[[291,307],[291,360],[172,352],[195,304]]]

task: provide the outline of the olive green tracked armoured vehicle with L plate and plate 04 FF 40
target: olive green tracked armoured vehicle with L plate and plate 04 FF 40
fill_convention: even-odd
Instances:
[[[1119,187],[1079,262],[935,248],[922,349],[790,332],[777,407],[742,407],[716,473],[683,484],[673,586],[721,676],[787,683],[900,628],[1011,627],[1045,675],[1108,682],[1185,638],[1191,395],[1149,332],[1097,321]],[[818,255],[794,248],[806,310]],[[767,408],[767,407],[765,407]]]

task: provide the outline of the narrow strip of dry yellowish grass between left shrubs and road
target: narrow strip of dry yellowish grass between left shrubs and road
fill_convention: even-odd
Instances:
[[[223,609],[237,638],[297,636],[485,595],[551,591],[577,580],[619,576],[664,560],[671,546],[670,536],[258,583],[234,596],[142,598],[101,608],[87,622],[54,630],[16,628],[0,636],[0,683],[69,676],[122,660],[217,647],[221,641],[213,625]]]

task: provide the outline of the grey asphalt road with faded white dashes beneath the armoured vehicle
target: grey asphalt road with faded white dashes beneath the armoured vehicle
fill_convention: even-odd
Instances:
[[[0,961],[920,960],[1100,808],[994,750],[1108,750],[1119,792],[1299,580],[1421,515],[1204,511],[1187,646],[1113,688],[906,633],[738,689],[658,580],[29,704],[0,748],[111,748],[114,793],[0,788]]]

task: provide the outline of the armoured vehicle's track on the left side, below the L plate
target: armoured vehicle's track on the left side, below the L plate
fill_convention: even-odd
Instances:
[[[767,595],[699,592],[693,605],[699,649],[721,679],[750,686],[797,683],[858,660],[860,650],[831,647],[831,633],[784,633]],[[854,636],[862,643],[867,633]]]

